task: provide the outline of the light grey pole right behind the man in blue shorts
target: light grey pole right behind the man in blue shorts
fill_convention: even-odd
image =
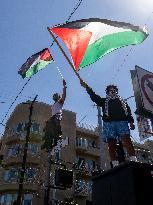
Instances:
[[[103,137],[103,133],[102,133],[102,113],[101,113],[101,108],[99,106],[97,106],[97,110],[98,110],[98,132],[99,132],[99,137],[100,137],[100,155],[101,155],[101,169],[102,170],[107,170],[108,164],[107,164],[107,146],[106,144],[103,142],[102,137]]]

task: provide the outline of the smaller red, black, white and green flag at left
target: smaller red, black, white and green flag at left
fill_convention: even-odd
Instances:
[[[39,70],[45,68],[48,64],[53,61],[48,48],[32,55],[27,61],[21,66],[18,73],[22,78],[28,78],[36,74]]]

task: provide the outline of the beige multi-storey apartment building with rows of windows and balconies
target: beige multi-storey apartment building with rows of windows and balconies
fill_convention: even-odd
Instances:
[[[0,167],[0,204],[12,205],[17,199],[20,169],[23,160],[26,128],[31,102],[16,106],[6,123],[0,155],[3,164]],[[23,185],[24,205],[43,205],[47,183],[47,153],[41,150],[45,121],[51,116],[51,107],[42,102],[35,102],[32,114],[32,126],[28,144],[26,173]],[[77,125],[76,113],[63,111],[63,138],[69,138],[69,144],[51,156],[50,202],[73,198],[79,205],[86,205],[91,200],[91,173],[100,167],[100,141],[97,128]],[[55,170],[63,168],[73,171],[73,186],[66,189],[54,189]],[[60,204],[60,203],[59,203]]]

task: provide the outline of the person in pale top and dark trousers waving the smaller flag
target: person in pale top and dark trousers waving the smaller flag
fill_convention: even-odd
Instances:
[[[63,94],[62,96],[58,93],[53,95],[54,104],[51,106],[52,115],[49,120],[46,122],[44,128],[44,137],[45,141],[42,145],[42,149],[51,150],[54,146],[57,145],[57,141],[62,137],[61,130],[61,120],[62,120],[62,108],[66,98],[66,81],[63,79]]]

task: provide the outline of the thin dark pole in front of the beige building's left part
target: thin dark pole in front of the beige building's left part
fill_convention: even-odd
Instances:
[[[27,151],[28,151],[28,143],[29,143],[29,137],[30,137],[30,128],[31,128],[31,124],[32,124],[32,119],[31,118],[32,118],[32,112],[33,112],[33,104],[35,103],[37,97],[38,97],[38,95],[35,96],[35,98],[31,102],[31,105],[29,107],[30,113],[29,113],[29,121],[28,121],[28,125],[27,125],[27,133],[26,133],[26,138],[25,138],[22,168],[21,168],[21,171],[20,171],[17,205],[22,204],[23,182],[24,182],[24,175],[25,175],[25,172],[26,172]]]

